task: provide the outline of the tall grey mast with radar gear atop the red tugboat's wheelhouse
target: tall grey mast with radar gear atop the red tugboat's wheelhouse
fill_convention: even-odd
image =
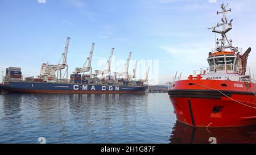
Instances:
[[[221,12],[217,11],[217,15],[218,14],[222,14],[222,18],[221,18],[221,22],[217,23],[217,26],[208,28],[212,29],[212,32],[214,33],[220,33],[221,34],[221,39],[217,39],[217,47],[216,47],[216,51],[218,52],[222,52],[222,51],[226,51],[226,48],[229,48],[232,51],[232,39],[228,40],[228,37],[226,36],[226,33],[229,32],[232,29],[232,21],[233,19],[230,20],[230,22],[228,23],[228,20],[226,19],[226,12],[231,12],[231,9],[226,10],[226,7],[228,7],[227,5],[224,5],[224,3],[222,3],[222,5],[220,6],[220,8],[222,9]],[[216,30],[217,27],[222,26],[222,30]],[[221,45],[220,47],[218,46],[218,41],[221,41]],[[225,45],[225,41],[228,43],[228,45]]]

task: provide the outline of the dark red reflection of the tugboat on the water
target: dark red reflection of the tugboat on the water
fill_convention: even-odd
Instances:
[[[172,128],[170,143],[210,143],[210,137],[216,137],[217,143],[256,143],[256,126],[192,128],[176,122]]]

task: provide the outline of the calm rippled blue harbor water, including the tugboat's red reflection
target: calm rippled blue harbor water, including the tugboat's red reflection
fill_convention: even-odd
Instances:
[[[176,122],[167,94],[0,95],[0,143],[256,143],[256,127]]]

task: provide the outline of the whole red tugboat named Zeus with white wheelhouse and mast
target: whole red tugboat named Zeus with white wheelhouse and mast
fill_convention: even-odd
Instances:
[[[209,28],[220,33],[216,47],[207,58],[209,68],[201,68],[188,79],[174,82],[168,95],[179,122],[192,127],[240,127],[256,124],[256,84],[247,68],[248,48],[243,55],[233,47],[226,33],[232,29],[226,5],[221,23]],[[222,27],[222,30],[216,30]],[[220,41],[220,42],[219,42]]]

